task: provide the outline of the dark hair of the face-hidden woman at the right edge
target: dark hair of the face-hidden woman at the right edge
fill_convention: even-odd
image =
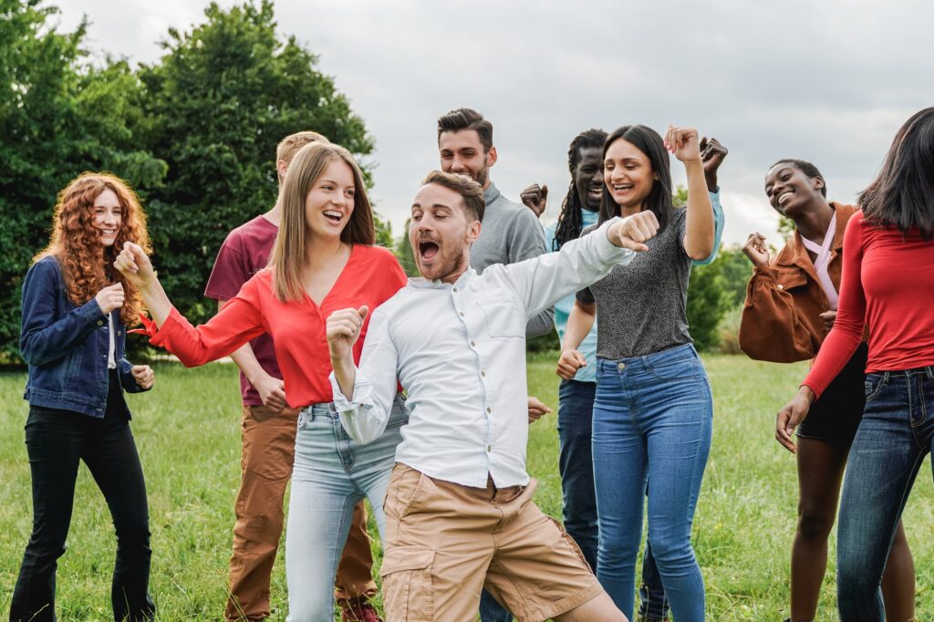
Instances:
[[[899,128],[879,177],[859,194],[866,219],[898,227],[905,236],[916,228],[934,240],[934,107],[912,115]]]

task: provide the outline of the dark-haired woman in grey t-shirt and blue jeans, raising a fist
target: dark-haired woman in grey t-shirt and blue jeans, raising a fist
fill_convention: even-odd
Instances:
[[[672,205],[669,148],[685,163],[687,206]],[[715,222],[697,131],[670,127],[665,141],[644,125],[610,134],[603,146],[600,221],[652,211],[660,233],[625,269],[578,293],[559,367],[601,316],[593,412],[593,465],[600,523],[597,577],[632,616],[635,562],[648,482],[648,539],[672,613],[703,620],[701,569],[691,522],[710,451],[713,400],[687,332],[691,262],[714,248]]]

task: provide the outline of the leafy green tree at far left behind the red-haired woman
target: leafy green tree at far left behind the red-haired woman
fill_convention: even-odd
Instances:
[[[165,163],[131,125],[140,85],[125,63],[86,62],[86,24],[59,32],[54,7],[0,0],[0,358],[19,360],[22,277],[48,243],[52,208],[83,171],[109,170],[145,196]]]

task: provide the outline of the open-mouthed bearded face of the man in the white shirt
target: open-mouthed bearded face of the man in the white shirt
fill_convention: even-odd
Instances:
[[[463,204],[458,192],[438,184],[418,191],[412,203],[409,242],[421,276],[453,283],[467,270],[480,222],[467,218]]]

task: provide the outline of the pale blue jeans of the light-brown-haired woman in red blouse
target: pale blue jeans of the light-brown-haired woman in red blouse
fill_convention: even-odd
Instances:
[[[383,501],[402,441],[399,432],[407,422],[401,395],[386,431],[367,445],[347,436],[331,404],[314,404],[299,414],[286,527],[289,622],[332,622],[337,562],[354,505],[363,497],[370,500],[379,536],[384,536]]]

